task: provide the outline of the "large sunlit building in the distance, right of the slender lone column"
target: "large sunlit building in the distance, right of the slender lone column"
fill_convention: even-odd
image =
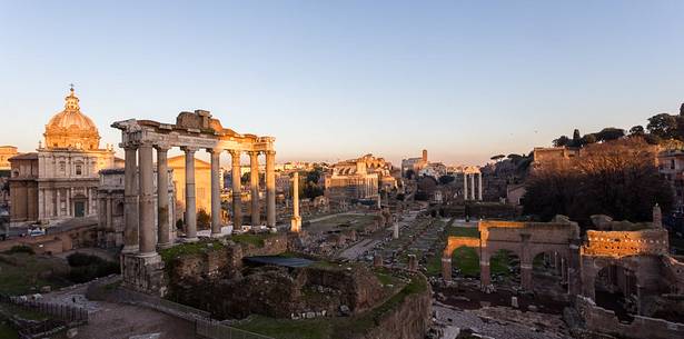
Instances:
[[[326,197],[335,202],[377,199],[379,187],[394,189],[396,185],[391,163],[373,154],[337,162],[325,177]]]

